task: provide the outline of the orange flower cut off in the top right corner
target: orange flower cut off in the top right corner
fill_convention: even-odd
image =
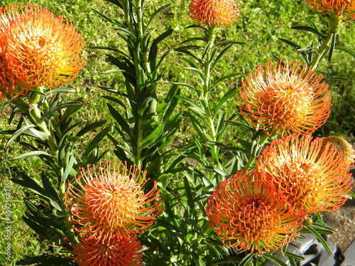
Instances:
[[[335,16],[342,16],[344,21],[352,21],[355,18],[354,0],[307,0],[307,3],[315,11],[323,14],[334,13]]]

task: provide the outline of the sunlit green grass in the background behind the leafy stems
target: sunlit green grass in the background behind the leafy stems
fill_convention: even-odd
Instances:
[[[2,5],[18,4],[20,1],[1,1]],[[26,4],[28,1],[23,0]],[[104,52],[101,50],[90,49],[96,45],[107,45],[116,48],[124,49],[123,43],[117,38],[114,30],[110,25],[97,16],[92,9],[101,11],[109,17],[116,19],[121,18],[121,13],[114,8],[113,5],[108,4],[102,0],[33,0],[33,4],[40,4],[53,13],[62,15],[68,18],[70,23],[77,26],[77,30],[82,33],[87,45],[84,52],[87,54],[87,65],[80,72],[79,77],[74,82],[67,86],[75,87],[77,92],[72,97],[82,96],[85,102],[85,108],[82,109],[80,119],[84,123],[92,121],[99,121],[107,118],[107,108],[102,95],[106,94],[97,86],[114,87],[116,89],[124,89],[122,79],[119,74],[103,75],[102,72],[109,70],[109,66],[105,60]],[[155,9],[164,4],[168,4],[165,0],[151,0],[146,3],[146,12],[153,13]],[[282,4],[280,4],[282,3]],[[177,48],[179,43],[186,38],[201,35],[196,29],[185,29],[191,25],[188,13],[187,1],[173,1],[170,8],[166,9],[158,16],[155,24],[152,27],[153,35],[163,33],[168,28],[174,28],[173,35],[160,45],[162,51],[166,49],[173,50]],[[219,31],[219,39],[229,39],[246,42],[246,45],[236,45],[231,49],[225,60],[220,63],[219,70],[216,75],[226,74],[229,72],[238,72],[240,75],[234,79],[226,81],[224,84],[217,87],[213,92],[212,98],[220,99],[225,92],[229,91],[231,87],[240,87],[241,81],[244,80],[248,72],[253,72],[257,65],[265,64],[271,60],[269,52],[273,52],[278,57],[285,59],[302,60],[302,57],[292,48],[282,43],[278,38],[285,38],[293,40],[302,47],[307,47],[310,41],[315,40],[315,36],[310,33],[290,30],[291,26],[308,26],[305,21],[305,16],[308,16],[310,10],[307,8],[305,1],[280,1],[280,0],[249,0],[238,1],[238,6],[241,11],[240,18],[232,26]],[[321,23],[327,23],[324,18],[320,16],[312,16],[313,21],[321,26]],[[325,25],[325,24],[323,24]],[[354,49],[354,26],[351,23],[346,23],[346,29],[342,31],[340,36],[340,44],[347,48]],[[327,28],[321,28],[325,31]],[[168,70],[165,73],[163,82],[160,84],[158,94],[163,96],[168,84],[165,82],[175,80],[177,77],[182,82],[191,82],[197,80],[192,77],[190,73],[183,70],[184,65],[180,59],[180,55],[176,52],[168,57],[165,61],[168,65]],[[341,52],[336,52],[334,60],[331,64],[323,61],[320,65],[321,70],[325,70],[334,76],[348,77],[350,82],[333,82],[330,88],[333,94],[332,116],[327,121],[326,125],[317,131],[317,135],[343,135],[349,140],[355,135],[354,126],[354,58]],[[190,95],[190,92],[184,92]],[[230,111],[235,109],[236,97],[227,102],[225,109]],[[180,106],[180,109],[183,107]],[[12,125],[7,124],[7,114],[9,109],[4,109],[0,116],[1,130],[13,129],[16,126],[16,119]],[[113,123],[109,121],[109,123]],[[189,138],[192,134],[192,128],[188,121],[183,121],[180,131],[177,135],[177,140],[183,141],[184,138]],[[230,133],[231,134],[231,133]],[[233,137],[236,133],[233,133]],[[18,154],[25,152],[25,150],[18,145],[11,145],[5,148],[7,136],[0,136],[0,189],[4,192],[6,185],[11,186],[11,202],[12,206],[12,255],[13,263],[23,257],[23,255],[39,255],[43,252],[55,253],[55,250],[48,249],[48,245],[43,240],[37,239],[33,232],[27,228],[26,224],[21,221],[23,215],[23,198],[31,199],[31,194],[21,189],[14,184],[11,184],[9,178],[17,177],[18,172],[24,171],[33,178],[38,178],[40,171],[40,161],[35,159],[26,159],[21,161],[13,161],[11,158]],[[109,143],[107,142],[107,145]],[[6,201],[5,193],[0,193],[0,202]],[[1,208],[1,225],[0,231],[4,233],[3,223],[4,208]],[[1,235],[4,239],[4,235]],[[8,260],[5,260],[3,254],[6,242],[0,242],[1,248],[1,265],[8,265]],[[9,264],[10,265],[10,264]]]

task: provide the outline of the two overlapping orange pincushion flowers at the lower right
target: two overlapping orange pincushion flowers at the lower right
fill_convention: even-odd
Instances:
[[[297,237],[308,214],[344,204],[348,170],[349,160],[326,138],[288,135],[263,150],[257,170],[220,183],[207,216],[225,245],[259,254],[278,250]]]

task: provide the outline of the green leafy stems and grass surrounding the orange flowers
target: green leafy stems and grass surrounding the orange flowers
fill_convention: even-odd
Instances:
[[[61,184],[80,167],[116,156],[146,170],[162,191],[163,212],[140,237],[148,247],[147,265],[250,265],[263,259],[285,265],[273,255],[257,259],[255,254],[226,248],[209,228],[205,206],[219,179],[249,166],[253,161],[248,159],[261,153],[261,132],[253,130],[237,111],[241,81],[256,65],[275,58],[303,60],[311,66],[317,43],[327,36],[317,27],[322,18],[308,17],[303,1],[282,5],[240,1],[241,18],[218,31],[215,43],[209,44],[205,28],[189,27],[185,1],[147,1],[148,17],[141,21],[128,12],[134,7],[131,1],[129,7],[107,2],[32,1],[77,26],[87,41],[87,65],[70,84],[74,89],[32,92],[43,96],[38,104],[40,116],[26,109],[28,104],[9,103],[4,109],[9,121],[1,117],[0,150],[4,153],[0,159],[6,163],[0,180],[9,183],[7,163],[21,159],[23,165],[11,162],[18,168],[11,180],[26,187],[13,185],[12,219],[17,223],[13,259],[24,253],[32,257],[20,260],[19,265],[74,265],[65,257],[40,255],[51,252],[39,243],[58,248],[62,236],[70,235],[60,202]],[[317,70],[327,73],[324,77],[331,81],[334,105],[331,118],[317,135],[354,135],[354,86],[353,81],[344,82],[355,76],[351,27],[346,24],[340,36],[329,35],[329,47],[320,56]],[[211,63],[209,73],[202,71],[206,58]],[[208,85],[207,93],[203,84]],[[26,116],[19,116],[20,111]],[[38,128],[42,122],[49,126],[52,139]],[[12,148],[15,143],[21,146]],[[104,151],[99,148],[102,145]],[[48,170],[40,171],[44,167]],[[18,204],[21,198],[26,198],[23,205]],[[6,199],[1,196],[0,201]],[[45,208],[40,209],[40,204]],[[40,240],[21,240],[18,232],[32,234],[24,223]],[[4,231],[4,226],[0,228]],[[305,232],[317,235],[331,230],[314,225]],[[7,261],[1,258],[2,262]]]

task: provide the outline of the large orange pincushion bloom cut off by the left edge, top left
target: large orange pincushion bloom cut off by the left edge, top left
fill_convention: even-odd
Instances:
[[[58,87],[84,66],[82,35],[41,6],[0,8],[0,99]]]

